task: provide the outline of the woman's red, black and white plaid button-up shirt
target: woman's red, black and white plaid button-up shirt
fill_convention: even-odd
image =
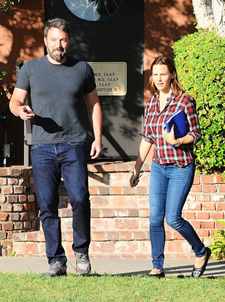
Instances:
[[[167,101],[165,108],[160,112],[158,94],[155,93],[152,98],[148,99],[145,106],[144,131],[140,135],[142,139],[155,145],[152,161],[161,165],[174,163],[178,167],[184,167],[189,163],[195,163],[193,144],[182,144],[178,148],[171,148],[161,132],[167,118],[177,110],[183,109],[190,130],[187,135],[196,144],[202,137],[196,113],[196,102],[188,95],[179,97],[173,92],[168,96]]]

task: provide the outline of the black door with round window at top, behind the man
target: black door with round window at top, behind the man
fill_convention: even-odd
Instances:
[[[70,22],[68,54],[95,63],[92,67],[97,69],[103,66],[95,72],[103,113],[101,158],[135,158],[143,120],[142,0],[45,0],[45,19],[55,17]],[[113,74],[116,66],[122,69],[123,89],[113,82],[120,81]],[[86,114],[85,106],[84,110]],[[93,134],[88,121],[87,129],[90,149]]]

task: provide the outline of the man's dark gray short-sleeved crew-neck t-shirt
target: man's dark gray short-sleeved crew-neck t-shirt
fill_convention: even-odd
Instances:
[[[96,87],[88,63],[67,56],[52,64],[43,56],[22,66],[15,87],[30,93],[32,144],[87,142],[82,101]]]

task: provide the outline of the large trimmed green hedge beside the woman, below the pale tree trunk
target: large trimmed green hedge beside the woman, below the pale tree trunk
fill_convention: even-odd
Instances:
[[[183,89],[197,102],[202,139],[195,148],[200,173],[225,171],[225,39],[195,32],[174,43]]]

